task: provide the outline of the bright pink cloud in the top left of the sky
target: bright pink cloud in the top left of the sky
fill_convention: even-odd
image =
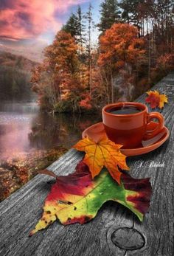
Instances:
[[[42,33],[57,32],[62,26],[58,14],[87,0],[1,0],[0,38],[21,40]]]

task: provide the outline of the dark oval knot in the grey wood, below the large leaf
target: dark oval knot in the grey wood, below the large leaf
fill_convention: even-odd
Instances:
[[[111,235],[111,241],[120,249],[137,250],[145,246],[145,238],[136,229],[122,227]]]

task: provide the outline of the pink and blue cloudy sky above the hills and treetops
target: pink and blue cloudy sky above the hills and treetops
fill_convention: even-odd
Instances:
[[[0,49],[41,60],[42,50],[78,4],[85,13],[90,2],[97,23],[102,0],[0,0]],[[97,30],[92,38],[97,41]]]

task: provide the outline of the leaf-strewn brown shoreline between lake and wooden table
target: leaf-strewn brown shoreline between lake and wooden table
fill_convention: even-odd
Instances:
[[[62,146],[0,160],[0,202],[68,151]]]

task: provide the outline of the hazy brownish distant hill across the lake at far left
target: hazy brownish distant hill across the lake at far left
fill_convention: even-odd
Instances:
[[[30,101],[31,70],[38,63],[10,52],[0,51],[0,100]]]

